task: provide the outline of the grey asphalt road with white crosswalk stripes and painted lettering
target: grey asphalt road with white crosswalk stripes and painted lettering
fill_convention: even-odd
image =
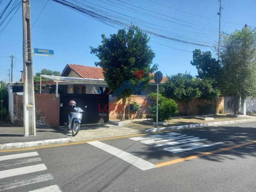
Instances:
[[[4,152],[0,191],[255,192],[255,140],[250,122]]]

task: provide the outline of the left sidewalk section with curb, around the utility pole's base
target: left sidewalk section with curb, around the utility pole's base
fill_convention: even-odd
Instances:
[[[37,126],[36,136],[23,136],[23,127],[0,124],[0,150],[44,146],[70,142],[70,138],[48,126]]]

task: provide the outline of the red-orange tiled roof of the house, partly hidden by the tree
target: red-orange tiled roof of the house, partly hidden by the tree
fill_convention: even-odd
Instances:
[[[103,70],[101,67],[91,67],[77,64],[67,64],[71,70],[76,72],[81,78],[92,79],[104,79]],[[154,75],[154,74],[151,74]],[[161,83],[167,81],[166,77],[163,77]],[[154,79],[150,80],[150,83],[155,83]]]

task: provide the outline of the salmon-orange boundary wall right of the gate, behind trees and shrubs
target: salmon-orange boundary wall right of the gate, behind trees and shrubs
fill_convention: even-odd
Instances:
[[[140,110],[136,114],[130,113],[130,119],[133,118],[147,118],[150,116],[149,111],[149,102],[148,96],[146,95],[132,95],[130,96],[130,103],[136,101],[140,105]],[[185,116],[186,115],[186,107],[181,103],[178,103],[178,111],[179,114],[177,116]],[[193,102],[189,103],[189,115],[198,115],[198,105],[206,105],[212,104],[211,101],[207,100],[198,100],[195,99]],[[128,105],[128,98],[126,98],[126,106]],[[224,97],[216,98],[216,105],[217,105],[217,113],[222,113],[224,108]],[[126,119],[128,119],[128,110],[126,110]],[[147,115],[148,114],[148,115]],[[109,100],[109,119],[121,119],[122,117],[122,99],[117,100],[116,98],[112,98]]]

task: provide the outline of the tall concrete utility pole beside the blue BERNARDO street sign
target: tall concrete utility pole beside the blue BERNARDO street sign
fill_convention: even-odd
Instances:
[[[30,0],[22,0],[24,136],[36,135]]]

